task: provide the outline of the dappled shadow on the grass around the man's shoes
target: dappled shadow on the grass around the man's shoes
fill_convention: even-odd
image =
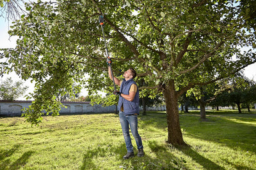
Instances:
[[[168,152],[167,148],[164,146],[157,145],[157,141],[149,141],[149,147],[152,152],[156,153],[157,157],[150,157],[147,152],[145,152],[144,157],[137,157],[137,150],[134,150],[135,157],[131,159],[124,160],[123,157],[127,150],[125,143],[120,143],[119,145],[109,146],[101,148],[94,148],[92,150],[87,150],[84,153],[82,169],[99,169],[100,157],[105,157],[104,159],[113,159],[114,162],[119,162],[116,167],[104,167],[103,169],[180,169],[184,167],[180,160],[173,156],[172,153]]]

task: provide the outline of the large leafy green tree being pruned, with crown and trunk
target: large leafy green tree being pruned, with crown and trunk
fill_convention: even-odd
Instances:
[[[3,71],[12,69],[36,81],[35,101],[26,111],[32,124],[42,120],[44,110],[58,115],[54,94],[64,88],[71,92],[74,82],[86,81],[90,94],[113,91],[99,15],[104,15],[114,74],[134,67],[137,80],[147,84],[140,87],[141,96],[146,91],[163,94],[172,145],[185,145],[179,96],[256,62],[254,30],[244,24],[237,1],[59,0],[26,9],[29,15],[22,15],[10,31],[20,37],[16,48],[2,56],[12,64]],[[237,46],[250,50],[241,52]],[[84,78],[85,73],[90,77]]]

